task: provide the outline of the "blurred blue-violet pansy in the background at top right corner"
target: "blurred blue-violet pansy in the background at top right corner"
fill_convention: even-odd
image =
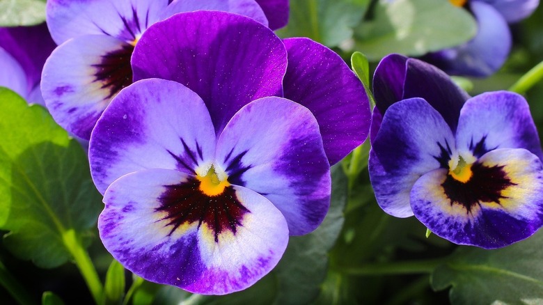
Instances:
[[[464,3],[466,1],[457,1]],[[450,75],[487,77],[496,72],[509,55],[512,37],[508,23],[528,17],[539,0],[469,0],[478,31],[469,42],[427,54],[424,60]]]

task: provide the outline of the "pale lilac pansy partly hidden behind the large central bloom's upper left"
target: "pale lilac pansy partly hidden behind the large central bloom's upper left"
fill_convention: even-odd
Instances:
[[[89,139],[111,99],[132,84],[130,58],[151,24],[187,10],[228,10],[272,26],[288,19],[288,1],[47,1],[47,24],[59,47],[43,72],[42,92],[56,122]],[[272,6],[275,4],[276,6]],[[286,12],[286,13],[285,13]]]

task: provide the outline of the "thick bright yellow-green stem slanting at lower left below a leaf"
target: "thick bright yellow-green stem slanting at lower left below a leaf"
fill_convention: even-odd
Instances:
[[[104,299],[102,295],[104,293],[104,286],[100,281],[100,277],[96,272],[93,261],[88,256],[88,253],[83,246],[81,238],[77,236],[74,230],[67,230],[63,233],[63,241],[68,251],[72,254],[79,272],[83,275],[88,289],[91,290],[91,295],[96,304],[102,304]]]

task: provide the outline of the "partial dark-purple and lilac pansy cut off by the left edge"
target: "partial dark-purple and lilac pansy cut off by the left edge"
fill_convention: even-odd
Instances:
[[[45,23],[0,28],[0,86],[10,88],[29,103],[44,105],[42,68],[55,47]]]

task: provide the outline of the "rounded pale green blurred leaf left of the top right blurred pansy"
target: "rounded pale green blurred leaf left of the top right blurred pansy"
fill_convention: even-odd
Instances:
[[[420,56],[460,45],[477,25],[464,8],[448,0],[381,0],[356,29],[356,49],[371,61],[390,53]]]

